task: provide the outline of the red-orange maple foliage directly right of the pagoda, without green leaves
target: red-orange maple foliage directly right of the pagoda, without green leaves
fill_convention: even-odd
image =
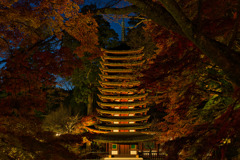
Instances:
[[[166,142],[190,135],[201,121],[191,115],[191,105],[200,104],[208,97],[198,88],[202,76],[199,68],[208,59],[187,39],[154,23],[145,30],[151,34],[158,50],[154,64],[143,73],[144,85],[153,91],[158,110],[167,115],[156,123],[160,131],[159,142]],[[201,61],[200,61],[201,60]],[[157,95],[157,96],[156,96]]]

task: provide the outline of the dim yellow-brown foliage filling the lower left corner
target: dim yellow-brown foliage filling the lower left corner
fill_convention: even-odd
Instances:
[[[35,117],[0,116],[0,159],[77,159],[65,145],[82,143],[82,135],[44,132]]]

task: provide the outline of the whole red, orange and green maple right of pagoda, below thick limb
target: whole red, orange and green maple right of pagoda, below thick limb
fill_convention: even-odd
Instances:
[[[217,118],[220,117],[220,120],[221,115],[238,99],[235,95],[238,93],[237,88],[234,92],[226,74],[190,41],[155,24],[149,24],[146,31],[150,32],[159,49],[156,63],[144,72],[144,84],[156,91],[156,108],[167,114],[164,120],[153,128],[159,133],[159,142],[165,142],[169,159],[180,158],[180,153],[185,154],[181,155],[184,158],[206,158],[204,156],[214,155],[221,146],[225,146],[222,151],[224,157],[224,151],[227,151],[229,144],[223,141],[238,137],[238,129],[230,127],[229,124],[229,127],[226,127],[223,119],[222,123],[219,123],[219,128],[224,126],[221,128],[223,132],[212,133],[216,128],[208,130],[199,129],[198,126],[204,124],[209,127]],[[233,112],[238,114],[238,109]],[[233,117],[229,115],[228,118]],[[235,120],[235,124],[231,125],[238,123],[237,119]],[[234,134],[229,134],[233,130]],[[195,136],[196,134],[198,136]],[[209,142],[211,145],[206,144]],[[220,159],[221,156],[215,158]]]

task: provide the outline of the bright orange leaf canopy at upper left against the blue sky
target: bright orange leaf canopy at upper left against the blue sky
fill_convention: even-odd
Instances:
[[[76,50],[79,56],[86,51],[96,54],[97,23],[91,14],[79,13],[80,3],[82,1],[78,0],[5,2],[9,7],[0,10],[1,17],[4,17],[0,20],[1,56],[6,54],[4,51],[16,47],[29,48],[52,35],[61,39],[64,31],[81,43]]]

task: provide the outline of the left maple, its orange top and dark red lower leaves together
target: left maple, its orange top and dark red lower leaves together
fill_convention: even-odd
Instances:
[[[1,1],[1,91],[8,95],[1,100],[2,109],[10,113],[43,109],[56,75],[70,76],[81,66],[84,52],[99,53],[97,23],[91,14],[79,13],[82,3]],[[79,43],[73,52],[67,35]]]

